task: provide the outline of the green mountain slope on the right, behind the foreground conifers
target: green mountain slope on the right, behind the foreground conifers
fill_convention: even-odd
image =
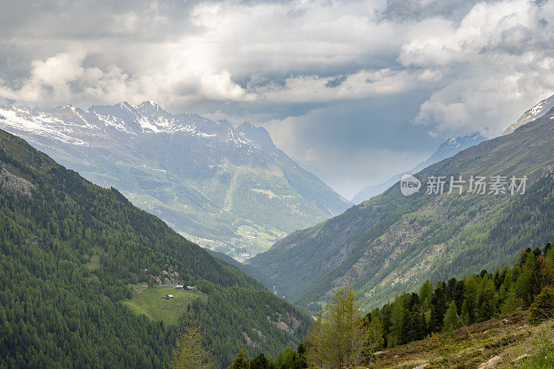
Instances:
[[[251,259],[280,295],[310,304],[352,284],[366,309],[427,278],[438,280],[514,261],[554,234],[554,114],[484,141],[417,175],[418,194],[384,194],[315,227],[290,234]],[[430,176],[528,176],[526,193],[426,194]],[[508,180],[509,184],[509,180]],[[488,191],[488,190],[487,190]]]

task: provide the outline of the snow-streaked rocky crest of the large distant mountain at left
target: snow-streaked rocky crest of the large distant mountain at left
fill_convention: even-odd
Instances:
[[[46,110],[0,105],[0,126],[77,146],[93,146],[91,139],[113,141],[116,137],[181,135],[261,149],[247,138],[247,131],[235,130],[227,121],[213,121],[190,113],[174,115],[152,101],[136,106],[127,102],[92,106],[87,111],[71,105]],[[257,129],[263,130],[271,141],[264,128]],[[260,144],[264,143],[260,141]],[[274,147],[274,150],[277,149]]]

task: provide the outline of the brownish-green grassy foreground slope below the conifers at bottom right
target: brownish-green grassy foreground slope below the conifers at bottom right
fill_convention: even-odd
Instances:
[[[527,317],[517,311],[377,352],[369,368],[476,369],[494,357],[501,363],[485,368],[554,368],[554,321],[528,325]]]

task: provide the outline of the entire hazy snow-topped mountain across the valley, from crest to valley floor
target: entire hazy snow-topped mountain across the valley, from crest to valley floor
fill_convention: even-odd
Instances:
[[[351,205],[276,148],[264,128],[172,114],[152,101],[87,110],[0,105],[0,128],[233,257]]]

